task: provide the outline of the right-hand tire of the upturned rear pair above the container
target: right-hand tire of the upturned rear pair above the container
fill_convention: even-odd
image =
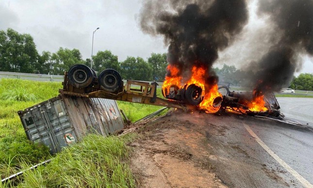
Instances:
[[[115,93],[123,88],[121,76],[114,69],[105,69],[99,74],[99,84],[102,90]]]

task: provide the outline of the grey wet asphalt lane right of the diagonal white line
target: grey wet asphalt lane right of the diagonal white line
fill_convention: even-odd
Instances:
[[[306,180],[310,182],[309,185],[313,185],[312,130],[272,121],[249,121],[244,125],[249,126],[257,137],[259,137],[272,152],[280,157],[283,162],[302,176],[304,181]],[[272,161],[280,163],[279,160],[274,158]],[[277,165],[277,167],[284,173],[291,173],[288,172],[288,169],[284,168],[282,164]],[[297,182],[300,181],[299,179],[297,180]],[[301,186],[305,187],[303,180],[301,181]]]

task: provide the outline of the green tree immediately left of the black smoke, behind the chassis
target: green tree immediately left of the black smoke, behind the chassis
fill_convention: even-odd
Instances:
[[[152,67],[152,78],[155,81],[164,81],[166,74],[166,53],[152,53],[148,58],[148,63]]]

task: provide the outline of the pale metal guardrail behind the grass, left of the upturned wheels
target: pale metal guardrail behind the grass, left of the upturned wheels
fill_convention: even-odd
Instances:
[[[12,72],[1,72],[1,71],[0,71],[0,78],[16,78],[16,79],[35,80],[35,81],[63,81],[64,80],[64,76],[61,76],[61,75],[12,73]]]

